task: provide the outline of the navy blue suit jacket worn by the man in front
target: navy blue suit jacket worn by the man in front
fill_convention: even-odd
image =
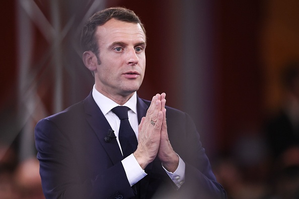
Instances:
[[[137,97],[139,123],[150,103]],[[147,175],[139,181],[138,198],[226,198],[190,117],[166,109],[169,140],[186,163],[185,183],[177,190],[156,158],[144,169]],[[104,140],[109,129],[92,94],[38,122],[35,140],[46,198],[134,198],[116,139]]]

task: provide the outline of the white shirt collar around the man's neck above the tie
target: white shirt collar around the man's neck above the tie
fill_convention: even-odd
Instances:
[[[114,107],[120,106],[117,103],[115,103],[112,99],[106,97],[101,92],[99,92],[96,89],[95,85],[93,87],[92,94],[97,105],[99,106],[99,108],[101,109],[104,115],[106,115]],[[123,106],[130,108],[135,114],[137,114],[136,105],[137,105],[137,93],[135,91],[134,94],[129,98],[129,100]]]

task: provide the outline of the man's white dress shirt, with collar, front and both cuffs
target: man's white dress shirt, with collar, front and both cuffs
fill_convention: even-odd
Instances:
[[[95,102],[101,109],[102,113],[104,114],[105,118],[107,119],[108,123],[110,124],[112,130],[114,130],[114,134],[116,136],[116,140],[118,143],[118,146],[121,150],[121,146],[118,139],[118,130],[120,126],[120,120],[119,118],[111,111],[114,107],[120,106],[112,99],[106,97],[102,93],[100,93],[95,86],[93,87],[92,95],[95,99]],[[137,118],[137,94],[134,92],[132,97],[126,102],[123,106],[126,106],[130,108],[128,111],[128,118],[130,125],[132,129],[134,130],[136,137],[138,138],[138,118]],[[124,167],[124,170],[126,172],[128,181],[130,185],[134,185],[136,182],[138,182],[140,179],[142,179],[147,174],[144,172],[144,170],[140,167],[138,164],[136,158],[133,154],[129,155],[122,161],[122,165]],[[163,167],[164,168],[164,167]],[[169,177],[173,180],[173,182],[180,188],[180,186],[185,181],[185,162],[179,157],[179,166],[177,170],[172,173],[167,171],[165,168],[164,170],[167,172]]]

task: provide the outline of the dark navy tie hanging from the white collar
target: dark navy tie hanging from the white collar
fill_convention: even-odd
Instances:
[[[118,139],[124,158],[136,151],[138,145],[136,135],[129,122],[128,110],[129,108],[125,106],[118,106],[111,110],[120,119]]]

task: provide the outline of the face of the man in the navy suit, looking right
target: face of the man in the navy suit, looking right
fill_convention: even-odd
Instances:
[[[96,30],[100,64],[96,89],[109,98],[127,97],[140,87],[145,72],[145,34],[139,24],[111,19]]]

